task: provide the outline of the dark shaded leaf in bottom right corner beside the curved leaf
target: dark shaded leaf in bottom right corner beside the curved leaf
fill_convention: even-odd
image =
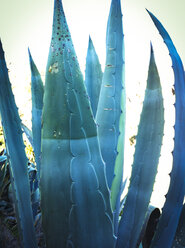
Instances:
[[[179,218],[179,224],[173,240],[174,248],[183,248],[185,247],[185,204],[183,205],[181,215]]]

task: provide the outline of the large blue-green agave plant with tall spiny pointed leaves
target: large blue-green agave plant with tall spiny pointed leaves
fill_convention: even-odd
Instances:
[[[173,62],[176,124],[169,191],[152,242],[143,247],[183,247],[184,222],[179,218],[185,195],[184,68],[167,31],[148,13]],[[54,1],[44,86],[30,51],[29,58],[32,131],[21,124],[0,46],[0,111],[22,246],[38,247],[34,218],[41,202],[46,247],[142,247],[164,129],[162,88],[152,45],[132,174],[123,202],[126,89],[120,0],[111,2],[104,73],[90,38],[84,82],[61,0]],[[28,168],[22,128],[33,145],[37,175],[35,168]],[[33,172],[31,183],[28,169]]]

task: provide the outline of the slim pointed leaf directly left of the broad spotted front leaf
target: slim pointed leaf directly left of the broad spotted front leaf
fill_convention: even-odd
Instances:
[[[44,87],[40,73],[33,61],[28,49],[31,68],[31,92],[32,92],[32,135],[37,177],[40,179],[40,156],[41,156],[41,116],[43,108]]]

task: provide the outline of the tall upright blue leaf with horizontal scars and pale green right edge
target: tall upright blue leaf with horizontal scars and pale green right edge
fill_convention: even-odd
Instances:
[[[107,24],[106,66],[98,102],[96,122],[106,176],[111,188],[113,211],[119,212],[123,179],[125,136],[125,86],[123,26],[120,0],[112,0]],[[118,214],[117,214],[118,216]],[[115,218],[117,223],[117,219]]]

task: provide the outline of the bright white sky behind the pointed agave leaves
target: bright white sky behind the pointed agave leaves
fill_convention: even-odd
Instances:
[[[0,38],[17,105],[24,113],[24,122],[30,120],[30,71],[27,48],[44,79],[53,19],[53,0],[0,0]],[[82,72],[89,34],[99,55],[102,69],[105,63],[105,34],[111,0],[63,0],[64,11],[73,38]],[[154,27],[145,8],[163,23],[185,63],[185,1],[184,0],[122,0],[123,25],[126,50],[127,132],[125,176],[133,158],[133,146],[129,137],[137,133],[140,111],[149,63],[150,40],[153,43],[156,63],[163,87],[165,105],[165,136],[159,175],[152,196],[152,203],[159,207],[164,202],[172,163],[174,97],[172,95],[173,73],[168,51]],[[165,182],[164,184],[161,184]],[[159,194],[161,195],[159,197]]]

